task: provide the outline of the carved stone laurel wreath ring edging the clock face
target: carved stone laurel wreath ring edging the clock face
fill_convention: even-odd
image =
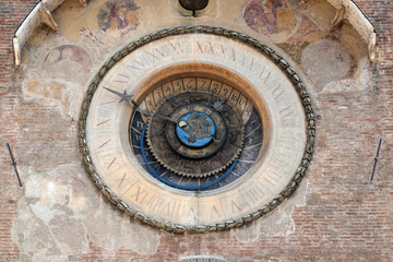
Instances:
[[[211,34],[216,36],[226,37],[229,39],[234,39],[246,44],[254,49],[257,49],[262,55],[269,57],[274,63],[276,63],[281,70],[288,76],[288,79],[293,82],[296,91],[299,95],[299,98],[302,102],[302,106],[306,112],[306,121],[307,121],[307,141],[306,148],[303,152],[302,159],[297,168],[295,175],[291,180],[285,187],[285,189],[277,194],[271,202],[261,206],[260,209],[238,218],[229,219],[218,224],[206,224],[206,225],[181,225],[181,224],[172,224],[168,221],[162,221],[154,217],[151,217],[146,214],[138,212],[129,204],[124,203],[119,196],[117,196],[110,188],[108,188],[104,180],[96,172],[92,158],[90,156],[90,151],[87,146],[86,140],[86,119],[88,115],[88,108],[91,102],[93,99],[94,93],[97,90],[99,82],[106,75],[106,73],[122,58],[128,56],[129,53],[135,51],[138,48],[150,44],[152,41],[169,37],[176,35],[184,35],[184,34]],[[307,168],[310,165],[312,153],[314,148],[315,142],[315,116],[314,110],[311,105],[311,98],[309,93],[307,92],[306,85],[301,81],[300,76],[296,73],[295,69],[290,67],[290,64],[276,51],[274,51],[269,46],[259,41],[258,39],[248,36],[246,34],[227,29],[224,27],[214,27],[214,26],[178,26],[166,29],[160,29],[158,32],[145,35],[123,47],[120,51],[116,52],[111,58],[109,58],[104,66],[99,69],[98,73],[95,75],[93,81],[90,83],[87,92],[82,103],[80,119],[79,119],[79,144],[80,150],[83,155],[83,163],[87,172],[90,174],[91,179],[95,182],[96,187],[100,190],[100,192],[119,210],[126,212],[126,214],[134,217],[138,221],[141,221],[145,224],[154,226],[159,229],[164,229],[167,231],[172,231],[176,234],[201,234],[207,231],[221,231],[228,230],[231,228],[241,227],[246,224],[249,224],[259,217],[267,214],[273,211],[279,203],[282,203],[286,198],[290,196],[297,187],[299,186],[301,179],[306,176]]]

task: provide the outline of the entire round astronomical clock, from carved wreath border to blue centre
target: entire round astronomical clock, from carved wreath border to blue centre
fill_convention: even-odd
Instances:
[[[294,192],[314,127],[307,91],[282,57],[200,26],[116,53],[90,85],[80,136],[88,172],[120,210],[199,233],[241,226]]]

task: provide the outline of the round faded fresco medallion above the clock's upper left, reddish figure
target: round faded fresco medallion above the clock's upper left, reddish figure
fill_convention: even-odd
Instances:
[[[139,25],[140,8],[133,0],[106,2],[98,12],[98,25],[107,34],[122,37]]]

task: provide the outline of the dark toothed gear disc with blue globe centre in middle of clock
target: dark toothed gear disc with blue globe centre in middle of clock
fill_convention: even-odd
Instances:
[[[219,96],[186,92],[165,99],[150,117],[147,144],[170,171],[206,177],[228,167],[241,152],[241,117]]]

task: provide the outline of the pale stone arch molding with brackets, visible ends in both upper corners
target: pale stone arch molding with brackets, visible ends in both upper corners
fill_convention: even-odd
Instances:
[[[15,67],[21,64],[21,53],[24,45],[34,33],[35,28],[41,24],[49,26],[51,29],[57,29],[57,23],[51,16],[53,12],[64,0],[41,0],[32,10],[32,12],[22,22],[13,37]],[[86,0],[79,0],[81,5],[86,4]],[[172,0],[177,1],[177,0]],[[307,2],[307,0],[302,0]],[[353,0],[326,0],[336,10],[336,16],[332,21],[332,26],[338,24],[342,20],[347,20],[358,34],[368,44],[369,59],[371,61],[376,58],[376,32],[373,25],[361,12],[358,5]]]

